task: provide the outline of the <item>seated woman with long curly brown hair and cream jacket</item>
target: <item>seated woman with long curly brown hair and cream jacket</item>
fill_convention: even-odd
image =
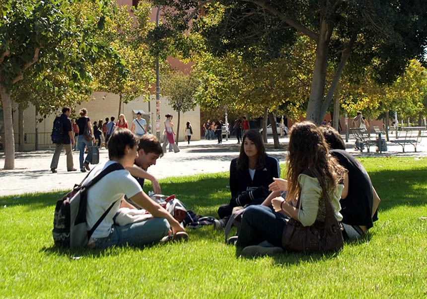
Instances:
[[[345,173],[346,169],[329,155],[329,147],[315,124],[294,124],[289,138],[286,179],[275,179],[269,186],[272,194],[265,202],[248,207],[243,214],[236,242],[237,247],[243,248],[242,255],[283,252],[286,217],[303,226],[324,222],[325,199],[330,198],[334,216],[341,221],[340,197]],[[285,198],[276,197],[284,191],[287,191]],[[263,241],[268,241],[269,247],[258,245]]]

